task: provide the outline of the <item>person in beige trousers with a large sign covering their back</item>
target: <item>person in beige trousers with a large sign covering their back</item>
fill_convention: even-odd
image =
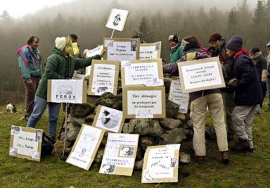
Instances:
[[[200,47],[195,36],[185,37],[182,42],[184,52],[180,61],[193,61],[200,58],[208,58],[207,53]],[[163,73],[172,73],[179,75],[175,64],[163,65]],[[189,93],[191,101],[191,120],[193,122],[193,147],[195,151],[195,160],[197,163],[205,163],[205,116],[207,106],[211,113],[214,130],[217,134],[217,145],[221,152],[222,163],[229,163],[229,151],[227,142],[227,132],[224,120],[223,101],[219,89],[207,89],[204,91]]]

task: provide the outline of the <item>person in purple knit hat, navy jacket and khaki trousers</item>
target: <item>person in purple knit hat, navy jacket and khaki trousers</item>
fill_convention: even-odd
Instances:
[[[231,119],[238,141],[231,146],[236,151],[253,151],[252,122],[257,104],[262,103],[262,88],[259,75],[248,51],[242,49],[243,39],[239,35],[231,37],[226,44],[226,51],[233,58],[233,79],[228,89],[235,92]]]

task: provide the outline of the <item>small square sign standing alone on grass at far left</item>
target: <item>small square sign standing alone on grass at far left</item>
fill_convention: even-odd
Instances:
[[[42,134],[43,130],[12,125],[9,156],[40,162]]]

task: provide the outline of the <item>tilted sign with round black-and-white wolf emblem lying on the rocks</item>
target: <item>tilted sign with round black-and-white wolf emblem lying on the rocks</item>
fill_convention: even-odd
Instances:
[[[121,132],[124,125],[123,112],[98,105],[92,125],[111,132]]]

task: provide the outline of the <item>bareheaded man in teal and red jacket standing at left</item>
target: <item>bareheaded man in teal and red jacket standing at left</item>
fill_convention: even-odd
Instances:
[[[27,45],[16,51],[18,64],[25,84],[25,119],[28,120],[34,108],[34,95],[42,75],[39,37],[30,36]]]

